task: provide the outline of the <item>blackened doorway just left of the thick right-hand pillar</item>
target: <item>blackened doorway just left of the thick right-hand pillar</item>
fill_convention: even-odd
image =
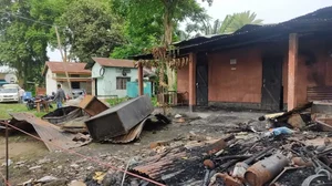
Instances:
[[[261,108],[280,111],[283,106],[282,56],[262,59]]]

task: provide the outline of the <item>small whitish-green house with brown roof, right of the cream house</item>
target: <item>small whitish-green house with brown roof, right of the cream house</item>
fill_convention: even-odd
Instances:
[[[85,69],[92,69],[92,94],[97,97],[125,97],[126,83],[137,80],[137,68],[132,60],[92,58]]]

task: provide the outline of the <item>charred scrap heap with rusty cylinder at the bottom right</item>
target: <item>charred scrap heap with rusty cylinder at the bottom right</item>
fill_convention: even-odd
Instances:
[[[156,155],[129,169],[165,185],[332,185],[332,133],[329,124],[322,128],[315,122],[326,117],[317,107],[320,105],[308,103],[287,113],[264,115],[259,120],[272,126],[264,132],[237,132],[221,140],[158,142],[153,146]],[[127,176],[126,184],[133,183],[139,180]]]

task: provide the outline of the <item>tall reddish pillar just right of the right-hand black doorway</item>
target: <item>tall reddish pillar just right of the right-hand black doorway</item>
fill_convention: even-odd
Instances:
[[[297,92],[297,71],[298,71],[298,34],[289,35],[289,52],[288,52],[288,111],[298,106]]]

